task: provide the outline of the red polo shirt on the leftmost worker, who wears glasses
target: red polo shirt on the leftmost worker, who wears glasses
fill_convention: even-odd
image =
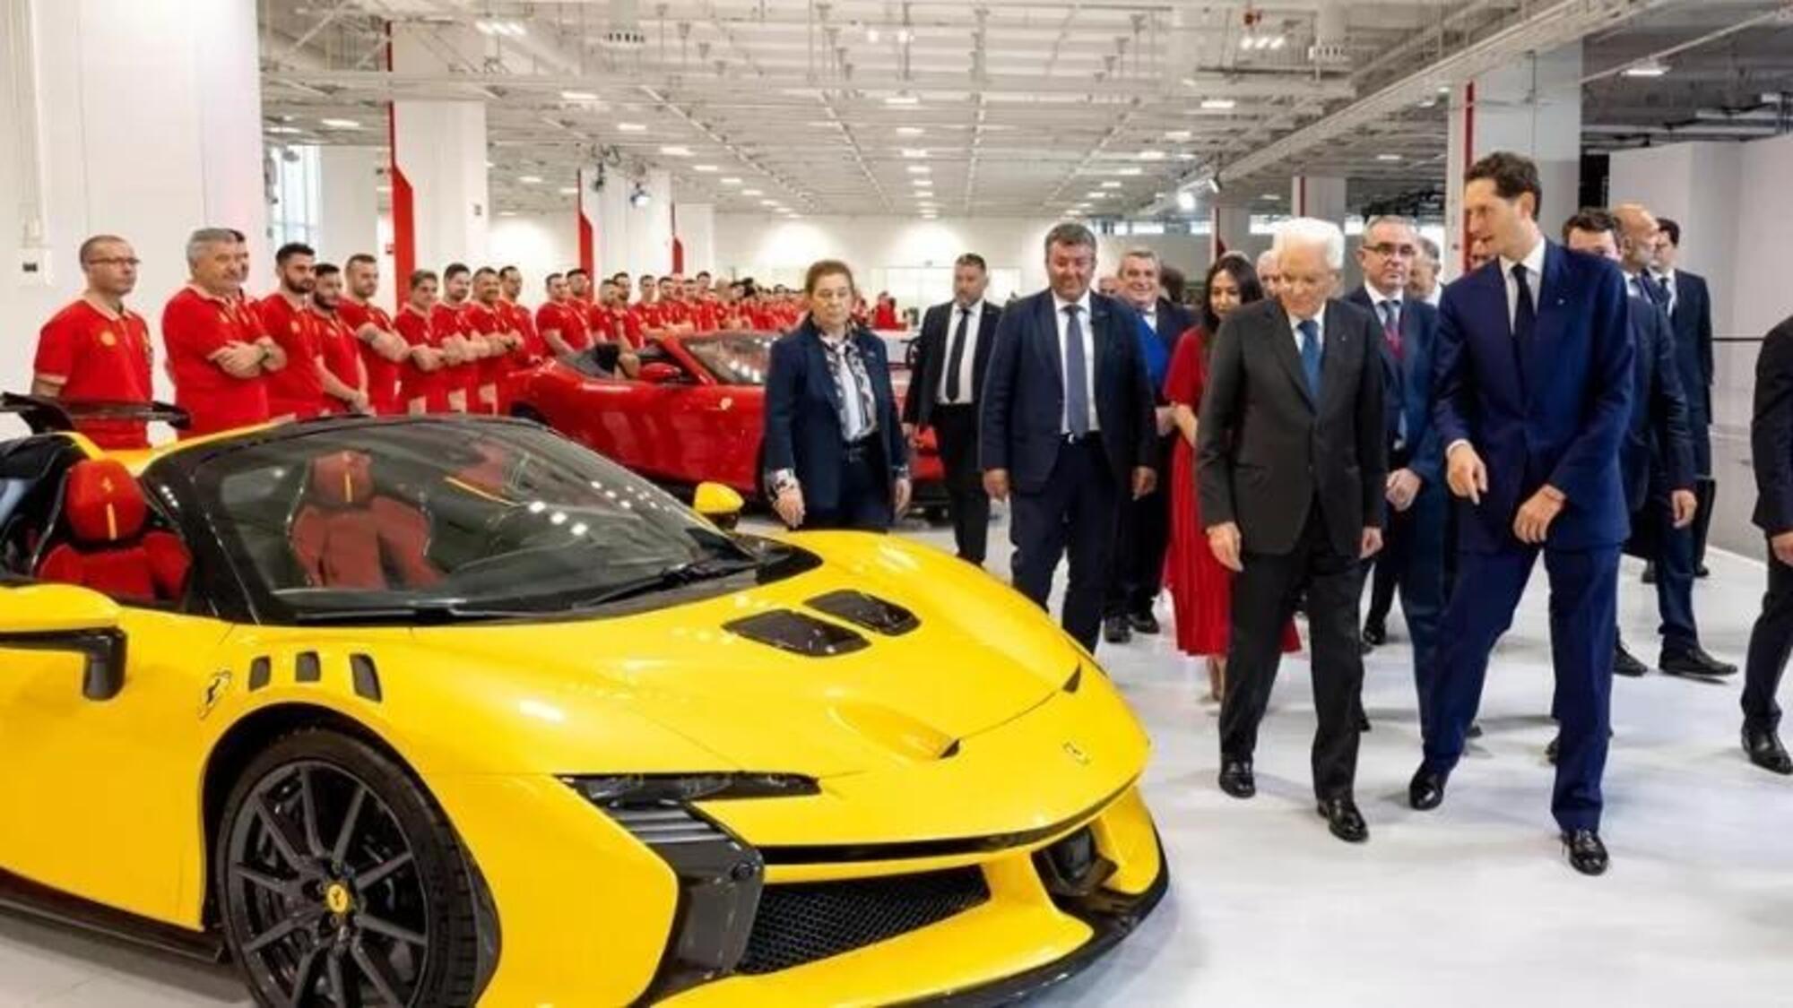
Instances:
[[[143,316],[129,308],[113,316],[82,298],[43,323],[32,371],[61,382],[59,395],[70,402],[147,404],[152,357]],[[75,430],[108,450],[149,447],[149,425],[140,420],[81,420]]]

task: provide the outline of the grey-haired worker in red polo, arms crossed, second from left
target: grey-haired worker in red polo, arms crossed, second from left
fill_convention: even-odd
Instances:
[[[242,296],[247,246],[238,231],[201,228],[186,239],[190,282],[161,310],[174,402],[192,418],[181,438],[265,423],[267,380],[287,353],[262,332]]]

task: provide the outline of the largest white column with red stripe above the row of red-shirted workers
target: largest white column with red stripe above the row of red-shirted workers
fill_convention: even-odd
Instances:
[[[416,29],[393,27],[394,74],[443,70]],[[394,271],[484,262],[491,226],[484,102],[393,102],[391,135]]]

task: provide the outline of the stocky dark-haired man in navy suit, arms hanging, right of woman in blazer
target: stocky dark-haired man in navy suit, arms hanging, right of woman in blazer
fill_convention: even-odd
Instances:
[[[1096,235],[1045,235],[1051,289],[1002,312],[977,413],[984,490],[1015,495],[1015,587],[1045,606],[1070,554],[1061,622],[1088,651],[1103,621],[1115,515],[1156,484],[1158,434],[1140,359],[1139,316],[1090,292]]]

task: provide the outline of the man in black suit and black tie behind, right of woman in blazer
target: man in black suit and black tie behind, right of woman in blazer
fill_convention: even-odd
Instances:
[[[909,438],[932,427],[947,470],[952,542],[959,560],[983,567],[990,540],[990,495],[977,466],[977,391],[984,387],[990,348],[1002,308],[984,301],[990,269],[965,253],[952,264],[952,300],[922,316],[902,421]]]

